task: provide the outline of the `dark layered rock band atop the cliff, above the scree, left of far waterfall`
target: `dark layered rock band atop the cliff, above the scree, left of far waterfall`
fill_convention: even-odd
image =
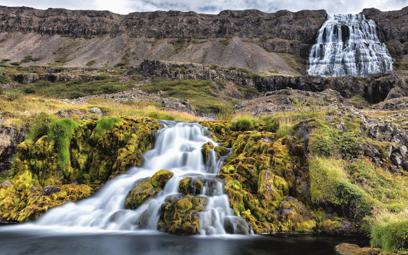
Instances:
[[[36,10],[0,7],[2,32],[93,38],[122,34],[133,38],[282,38],[314,43],[327,13],[318,11],[230,11],[218,15],[156,11],[119,15],[109,11]]]

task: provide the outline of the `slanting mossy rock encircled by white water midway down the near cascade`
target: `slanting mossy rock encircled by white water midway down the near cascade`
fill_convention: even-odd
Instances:
[[[133,210],[148,199],[155,197],[157,193],[164,188],[166,182],[170,180],[173,174],[174,173],[162,169],[156,172],[151,178],[137,182],[134,188],[129,192],[124,207]]]

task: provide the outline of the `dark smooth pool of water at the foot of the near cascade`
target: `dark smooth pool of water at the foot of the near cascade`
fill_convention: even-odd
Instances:
[[[75,232],[0,226],[0,254],[285,255],[338,254],[335,245],[368,238],[327,235],[175,236],[157,232]]]

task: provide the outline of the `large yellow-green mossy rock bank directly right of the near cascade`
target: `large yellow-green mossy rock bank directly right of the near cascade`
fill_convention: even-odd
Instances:
[[[232,131],[237,127],[222,129],[218,122],[205,123],[216,132],[221,145],[233,149],[218,177],[226,182],[224,191],[236,215],[245,219],[256,234],[313,232],[317,217],[307,209],[311,201],[302,145],[292,137],[276,139],[268,131]],[[255,129],[253,124],[251,128]],[[261,125],[257,128],[268,129]],[[207,148],[205,145],[203,150],[208,155]]]

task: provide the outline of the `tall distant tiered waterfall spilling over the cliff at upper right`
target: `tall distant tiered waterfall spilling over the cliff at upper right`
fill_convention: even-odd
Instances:
[[[323,77],[390,71],[393,60],[375,22],[363,14],[327,15],[309,56],[308,74]]]

